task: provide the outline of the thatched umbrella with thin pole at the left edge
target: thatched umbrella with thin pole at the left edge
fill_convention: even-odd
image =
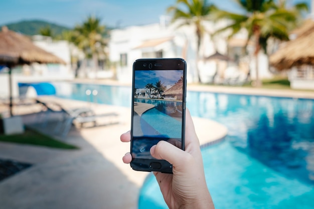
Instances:
[[[10,115],[12,116],[12,68],[17,65],[31,63],[60,63],[62,59],[35,46],[32,41],[21,34],[17,34],[2,27],[0,32],[0,65],[9,68]]]

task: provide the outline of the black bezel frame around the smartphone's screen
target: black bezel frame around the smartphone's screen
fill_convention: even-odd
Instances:
[[[146,65],[144,65],[146,64]],[[148,68],[148,66],[151,68]],[[132,104],[131,104],[131,145],[130,152],[132,155],[132,138],[133,138],[133,107],[134,107],[134,72],[135,70],[183,70],[183,99],[182,99],[182,143],[181,149],[185,149],[185,112],[186,112],[186,74],[187,74],[187,64],[186,61],[182,58],[156,58],[156,59],[138,59],[133,63],[132,69]],[[160,168],[154,168],[151,166],[151,163],[160,163]],[[133,170],[138,171],[160,171],[164,173],[172,173],[172,164],[166,160],[158,159],[144,159],[144,158],[134,158],[132,155],[132,161],[130,166]]]

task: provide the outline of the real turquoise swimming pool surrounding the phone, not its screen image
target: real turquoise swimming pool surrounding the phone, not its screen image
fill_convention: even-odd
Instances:
[[[131,104],[129,87],[55,86],[63,98],[86,101],[86,89],[97,89],[99,103]],[[314,208],[314,100],[187,92],[187,106],[229,130],[202,149],[216,208]],[[147,205],[167,208],[153,176],[140,192],[139,208]]]

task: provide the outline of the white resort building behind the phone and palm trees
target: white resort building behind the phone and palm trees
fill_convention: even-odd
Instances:
[[[131,83],[132,65],[139,58],[174,58],[181,57],[187,61],[188,82],[197,82],[197,39],[195,28],[193,26],[178,27],[178,22],[168,24],[167,18],[161,17],[159,24],[145,26],[131,26],[124,29],[116,29],[111,31],[109,41],[109,59],[115,63],[116,76],[121,82]],[[209,57],[218,51],[226,55],[227,51],[232,56],[235,56],[238,48],[243,48],[247,34],[242,31],[237,37],[232,39],[232,45],[228,49],[228,32],[212,38],[217,29],[226,26],[226,21],[218,23],[206,22],[206,34],[203,37],[203,42],[200,47],[198,69],[203,83],[209,82],[210,78],[218,71],[223,71],[232,65],[231,63],[206,60],[203,58]],[[230,47],[232,50],[230,50]],[[252,49],[250,50],[253,51]],[[241,56],[241,55],[239,55]],[[219,62],[219,65],[217,64]],[[243,59],[242,59],[243,62]],[[255,61],[246,59],[247,70],[251,78],[255,78]],[[238,65],[239,63],[237,63]],[[233,64],[234,65],[234,64]],[[219,69],[218,69],[219,68]],[[222,70],[220,69],[222,68]],[[267,56],[262,52],[259,54],[259,75],[260,78],[269,78],[271,74],[268,70]],[[221,75],[223,77],[223,75]]]

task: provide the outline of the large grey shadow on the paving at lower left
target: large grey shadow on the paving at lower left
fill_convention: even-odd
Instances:
[[[80,131],[61,140],[81,149],[0,144],[0,158],[33,164],[0,181],[2,208],[137,208],[138,186]]]

